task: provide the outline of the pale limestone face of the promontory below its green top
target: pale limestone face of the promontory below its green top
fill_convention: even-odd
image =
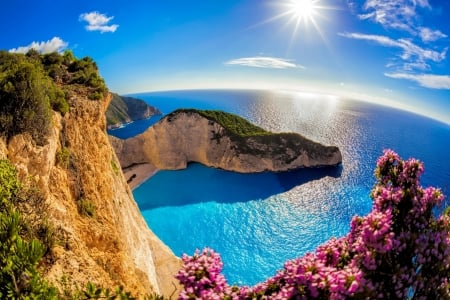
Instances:
[[[337,165],[342,161],[337,147],[293,133],[238,137],[195,111],[174,112],[127,140],[110,139],[123,168],[151,163],[158,169],[182,169],[189,162],[199,162],[251,173]]]

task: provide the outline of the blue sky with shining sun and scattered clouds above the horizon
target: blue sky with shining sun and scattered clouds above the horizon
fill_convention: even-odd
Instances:
[[[119,93],[290,89],[450,124],[449,13],[445,0],[14,0],[0,49],[91,56]]]

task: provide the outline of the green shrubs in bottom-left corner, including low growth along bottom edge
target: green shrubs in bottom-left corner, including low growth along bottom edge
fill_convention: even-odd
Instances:
[[[134,299],[88,282],[84,288],[65,281],[63,290],[42,274],[51,263],[51,248],[60,237],[46,222],[46,205],[38,189],[22,183],[8,160],[0,160],[0,299]],[[69,279],[70,281],[70,279]],[[156,294],[144,299],[161,300]]]

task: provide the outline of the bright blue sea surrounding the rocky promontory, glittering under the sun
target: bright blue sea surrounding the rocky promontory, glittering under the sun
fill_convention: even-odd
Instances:
[[[383,149],[425,163],[424,186],[450,194],[450,126],[390,107],[332,96],[268,91],[178,91],[132,95],[164,114],[221,109],[275,132],[299,132],[343,154],[339,168],[238,174],[190,164],[159,171],[133,191],[150,228],[173,252],[211,247],[229,283],[253,285],[283,263],[345,235],[371,209],[373,170]],[[143,132],[160,117],[110,133]],[[448,205],[448,200],[447,200]]]

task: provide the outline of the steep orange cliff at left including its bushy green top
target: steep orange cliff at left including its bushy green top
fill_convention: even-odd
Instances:
[[[150,231],[117,167],[106,134],[111,95],[95,63],[0,51],[0,100],[0,159],[42,197],[42,207],[24,197],[22,213],[54,228],[44,276],[61,289],[93,282],[173,294],[179,259]]]

